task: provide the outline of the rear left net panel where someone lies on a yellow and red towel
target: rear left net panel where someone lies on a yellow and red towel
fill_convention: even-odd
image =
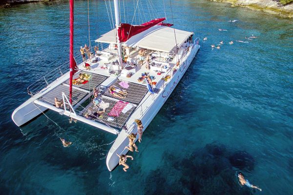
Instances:
[[[86,73],[87,75],[90,75],[91,77],[88,79],[87,83],[80,84],[80,85],[73,85],[73,86],[81,88],[81,89],[89,90],[89,91],[91,91],[94,87],[100,85],[106,78],[108,78],[103,75],[91,73],[88,71],[81,71],[79,73],[76,73],[73,76],[73,79],[78,78],[80,73],[82,74]],[[69,78],[65,81],[65,83],[69,85]]]

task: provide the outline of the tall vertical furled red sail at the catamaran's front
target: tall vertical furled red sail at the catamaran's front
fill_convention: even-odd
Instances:
[[[73,57],[73,20],[74,20],[74,17],[73,17],[73,9],[74,9],[74,0],[70,0],[69,1],[69,7],[70,7],[70,41],[69,41],[69,63],[70,63],[70,66],[69,66],[69,71],[70,71],[70,78],[69,78],[69,102],[70,104],[72,104],[72,78],[73,78],[73,75],[75,73],[75,65],[76,65],[76,62],[74,60],[74,57]]]

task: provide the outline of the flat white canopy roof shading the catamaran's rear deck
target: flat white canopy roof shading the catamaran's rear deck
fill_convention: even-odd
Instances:
[[[193,33],[175,29],[175,34],[177,45],[181,45]],[[96,42],[116,43],[115,29],[102,35]],[[174,29],[167,26],[153,26],[131,37],[122,45],[170,52],[176,46]]]

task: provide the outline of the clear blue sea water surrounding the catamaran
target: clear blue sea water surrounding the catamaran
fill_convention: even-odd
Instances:
[[[92,40],[110,29],[104,1],[96,2],[89,2]],[[162,1],[153,2],[163,17]],[[110,145],[99,147],[114,135],[52,111],[46,115],[60,127],[45,116],[21,128],[11,120],[29,98],[26,87],[68,60],[68,7],[57,1],[0,9],[0,194],[293,194],[293,20],[172,0],[175,27],[208,40],[125,173],[108,172]],[[172,22],[169,10],[167,4]],[[251,34],[258,38],[227,44]],[[221,49],[211,50],[220,40]],[[75,48],[87,42],[87,1],[75,1]],[[59,137],[73,145],[63,148]],[[236,171],[263,191],[240,187]]]

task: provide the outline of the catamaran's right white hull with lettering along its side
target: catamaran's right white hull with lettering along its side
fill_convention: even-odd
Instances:
[[[184,76],[186,73],[191,61],[194,59],[196,53],[198,52],[200,46],[199,45],[194,45],[194,47],[191,49],[187,59],[182,63],[181,68],[177,70],[177,73],[171,78],[171,80],[167,83],[167,86],[164,88],[162,92],[158,94],[158,97],[154,99],[154,102],[151,104],[151,106],[146,110],[144,113],[144,116],[141,118],[141,121],[144,125],[144,130],[146,130],[146,127],[150,124],[152,119],[157,115],[159,110],[162,108],[164,103],[166,102],[167,98],[171,95],[181,78]],[[135,112],[140,112],[135,111]],[[133,114],[135,116],[136,113]],[[137,115],[136,115],[137,116]],[[140,115],[139,115],[140,117]],[[138,117],[138,118],[139,118]],[[129,120],[134,122],[134,118],[131,117]],[[136,126],[134,126],[136,127]],[[128,129],[130,131],[129,133],[136,133],[137,129],[132,128]],[[107,158],[106,158],[106,165],[109,171],[112,171],[119,163],[119,157],[116,154],[126,154],[128,150],[125,150],[125,147],[128,145],[128,137],[127,133],[125,131],[121,131],[115,142],[113,143]],[[138,139],[138,137],[137,137]],[[135,141],[137,141],[137,139]]]

